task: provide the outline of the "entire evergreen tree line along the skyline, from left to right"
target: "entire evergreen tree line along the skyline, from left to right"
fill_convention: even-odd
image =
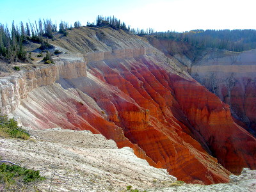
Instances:
[[[154,29],[132,29],[125,22],[113,17],[97,16],[95,22],[87,22],[88,27],[110,27],[113,29],[123,29],[127,33],[134,35],[154,35],[156,38],[168,38],[177,42],[187,42],[198,50],[207,47],[216,49],[227,49],[229,51],[246,51],[256,49],[256,30],[255,29],[235,29],[235,30],[192,30],[186,32],[155,32]],[[60,24],[53,23],[51,19],[39,19],[38,22],[20,22],[19,26],[13,21],[12,27],[0,24],[0,58],[12,63],[18,60],[27,60],[27,51],[24,44],[27,41],[38,42],[40,49],[51,48],[51,45],[45,41],[47,38],[54,39],[54,33],[59,31],[64,36],[68,35],[68,30],[80,28],[79,21],[74,22],[74,26],[68,22],[62,21]]]

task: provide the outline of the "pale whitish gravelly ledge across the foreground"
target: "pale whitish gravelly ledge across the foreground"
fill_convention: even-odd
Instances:
[[[33,140],[0,139],[0,156],[40,170],[46,180],[41,191],[125,191],[131,185],[141,191],[255,191],[256,171],[244,168],[230,182],[204,186],[173,184],[166,170],[149,166],[131,148],[117,148],[113,140],[90,131],[29,130]],[[24,188],[33,191],[35,188]]]

